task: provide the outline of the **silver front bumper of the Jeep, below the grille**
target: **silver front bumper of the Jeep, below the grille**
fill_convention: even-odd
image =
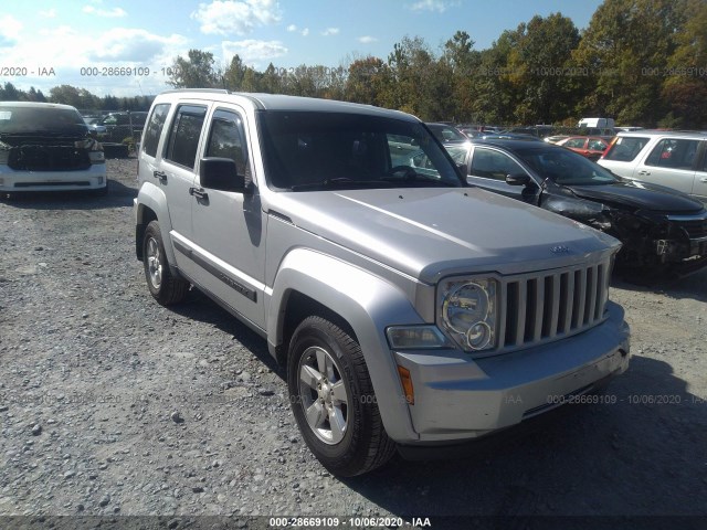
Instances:
[[[630,331],[623,309],[608,304],[609,318],[580,335],[486,359],[458,350],[395,351],[410,370],[414,404],[409,405],[419,439],[434,445],[473,439],[518,424],[590,392],[629,367]]]

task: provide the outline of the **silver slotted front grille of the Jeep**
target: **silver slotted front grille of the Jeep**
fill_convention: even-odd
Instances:
[[[496,351],[574,335],[604,319],[611,261],[505,277]]]

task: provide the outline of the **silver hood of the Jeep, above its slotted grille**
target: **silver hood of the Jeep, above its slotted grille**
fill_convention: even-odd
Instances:
[[[426,283],[567,266],[619,246],[581,223],[477,188],[281,192],[270,209]]]

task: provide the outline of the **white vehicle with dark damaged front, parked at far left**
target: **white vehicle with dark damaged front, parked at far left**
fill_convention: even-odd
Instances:
[[[101,144],[70,105],[0,102],[0,194],[107,190]]]

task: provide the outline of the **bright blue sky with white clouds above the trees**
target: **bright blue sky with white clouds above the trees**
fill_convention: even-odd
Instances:
[[[97,95],[157,94],[168,88],[163,68],[192,47],[212,52],[223,66],[238,53],[260,71],[271,62],[282,68],[337,67],[366,55],[386,60],[405,35],[422,36],[439,51],[464,30],[475,47],[484,50],[504,30],[535,14],[559,11],[581,30],[600,4],[601,0],[4,0],[0,83],[44,92],[67,84]],[[137,70],[134,75],[107,75],[107,68],[120,67]]]

